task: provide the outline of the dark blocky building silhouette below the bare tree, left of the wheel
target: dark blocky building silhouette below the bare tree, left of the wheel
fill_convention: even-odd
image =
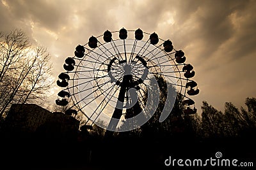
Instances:
[[[36,104],[12,104],[2,131],[10,138],[70,141],[77,138],[79,121]]]

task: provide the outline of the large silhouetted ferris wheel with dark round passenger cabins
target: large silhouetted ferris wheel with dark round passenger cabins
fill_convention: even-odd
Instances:
[[[56,104],[67,106],[67,115],[81,111],[87,124],[129,131],[147,122],[156,111],[161,95],[157,80],[162,78],[171,87],[166,99],[166,106],[171,107],[163,111],[159,121],[170,114],[176,94],[182,96],[179,103],[184,106],[184,115],[192,115],[196,108],[190,97],[199,89],[191,80],[193,66],[185,62],[184,52],[156,32],[107,30],[77,45],[74,55],[65,59],[65,71],[57,80],[62,90]]]

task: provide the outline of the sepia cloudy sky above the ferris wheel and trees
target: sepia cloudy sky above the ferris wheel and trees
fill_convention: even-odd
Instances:
[[[256,1],[0,0],[0,31],[22,29],[52,56],[56,78],[78,44],[107,29],[157,32],[182,49],[200,94],[218,110],[256,97]]]

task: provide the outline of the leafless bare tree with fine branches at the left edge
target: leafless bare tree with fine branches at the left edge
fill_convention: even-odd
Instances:
[[[39,103],[53,84],[51,56],[20,30],[0,33],[0,117],[11,104]]]

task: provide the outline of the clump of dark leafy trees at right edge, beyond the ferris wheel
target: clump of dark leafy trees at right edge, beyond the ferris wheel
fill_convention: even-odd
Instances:
[[[241,137],[245,131],[255,129],[255,108],[256,99],[246,98],[247,110],[241,107],[236,108],[234,104],[225,103],[225,111],[216,110],[206,101],[202,106],[202,122],[200,124],[202,138],[219,138],[219,137]],[[249,135],[249,134],[248,134]]]

